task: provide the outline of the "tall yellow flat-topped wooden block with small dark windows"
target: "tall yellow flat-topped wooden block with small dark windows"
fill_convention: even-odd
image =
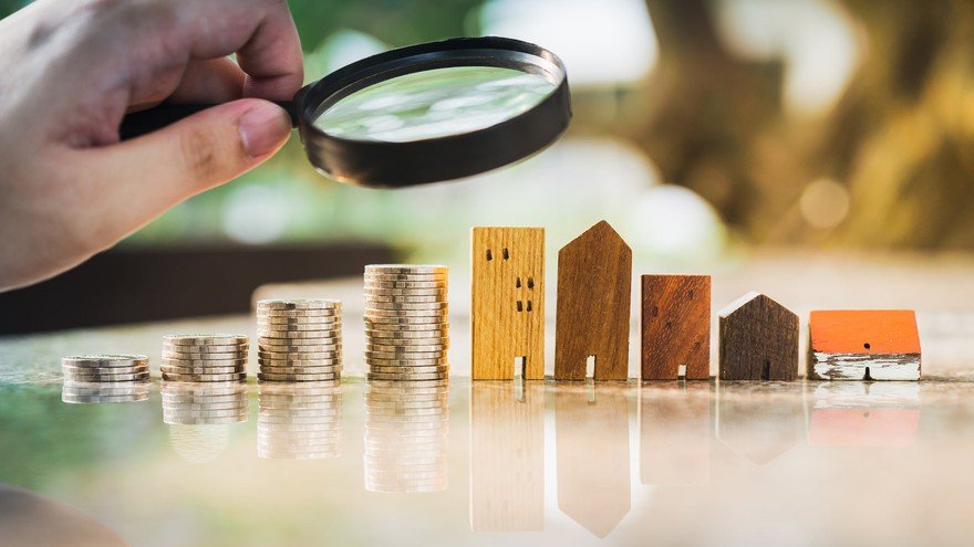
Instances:
[[[545,229],[474,228],[470,288],[475,380],[545,379]]]

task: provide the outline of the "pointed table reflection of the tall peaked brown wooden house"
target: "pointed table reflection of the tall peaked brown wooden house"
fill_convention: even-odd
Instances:
[[[598,537],[629,514],[629,398],[625,383],[560,383],[555,392],[558,508]]]

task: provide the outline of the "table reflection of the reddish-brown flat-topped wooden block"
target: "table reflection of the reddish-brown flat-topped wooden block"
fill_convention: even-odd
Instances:
[[[711,481],[708,381],[653,381],[640,388],[640,480],[650,485]]]

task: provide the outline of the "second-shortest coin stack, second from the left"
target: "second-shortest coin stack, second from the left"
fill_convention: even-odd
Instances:
[[[169,335],[163,343],[164,380],[241,381],[247,379],[247,336]]]

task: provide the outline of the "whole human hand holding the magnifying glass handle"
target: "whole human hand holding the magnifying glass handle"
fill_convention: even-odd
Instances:
[[[284,0],[39,0],[0,21],[0,291],[271,157],[291,125],[269,101],[303,82]],[[120,141],[163,101],[222,104]]]

